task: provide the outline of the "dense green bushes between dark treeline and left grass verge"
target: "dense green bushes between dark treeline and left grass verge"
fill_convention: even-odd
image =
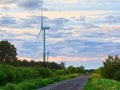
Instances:
[[[48,68],[43,67],[14,67],[11,65],[0,65],[0,85],[5,85],[8,82],[21,82],[32,78],[50,77],[52,72]]]

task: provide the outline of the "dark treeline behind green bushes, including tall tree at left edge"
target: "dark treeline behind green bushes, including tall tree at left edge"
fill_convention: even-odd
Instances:
[[[17,58],[17,49],[8,41],[0,41],[0,63],[2,65],[9,64],[14,66],[34,67],[42,66],[51,69],[64,68],[64,63],[57,64],[55,62],[36,62],[35,60],[19,60]]]

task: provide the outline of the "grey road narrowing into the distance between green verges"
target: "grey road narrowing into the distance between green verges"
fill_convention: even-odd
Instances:
[[[83,90],[89,75],[80,76],[71,80],[65,80],[37,90]]]

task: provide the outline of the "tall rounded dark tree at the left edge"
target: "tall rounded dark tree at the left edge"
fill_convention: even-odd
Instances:
[[[1,63],[15,63],[17,52],[14,45],[9,43],[8,41],[0,42],[0,62]]]

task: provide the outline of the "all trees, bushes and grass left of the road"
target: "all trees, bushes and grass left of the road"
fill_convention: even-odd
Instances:
[[[14,45],[8,41],[0,42],[0,90],[35,90],[85,72],[83,66],[65,68],[64,62],[19,60]]]

